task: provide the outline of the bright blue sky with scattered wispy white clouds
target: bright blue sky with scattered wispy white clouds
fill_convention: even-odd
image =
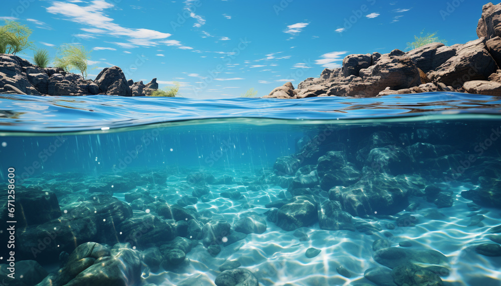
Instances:
[[[482,1],[9,0],[0,19],[34,30],[52,56],[64,43],[91,52],[89,78],[119,66],[127,79],[180,95],[258,96],[340,67],[348,54],[405,50],[423,29],[447,45],[475,40]],[[33,51],[21,57],[31,59]]]

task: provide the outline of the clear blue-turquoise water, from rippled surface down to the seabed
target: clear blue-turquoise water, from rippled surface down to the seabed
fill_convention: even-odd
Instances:
[[[500,106],[0,96],[0,283],[501,285]]]

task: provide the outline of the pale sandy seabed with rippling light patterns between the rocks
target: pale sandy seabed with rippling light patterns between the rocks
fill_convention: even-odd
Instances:
[[[226,173],[227,174],[227,173]],[[241,173],[239,173],[242,175]],[[236,174],[231,174],[236,177]],[[149,188],[151,195],[162,196],[169,203],[175,203],[183,195],[191,195],[191,191],[179,189],[179,184],[186,177],[171,176],[167,188]],[[299,228],[305,232],[309,240],[300,241],[295,231],[285,231],[267,220],[267,230],[263,234],[249,234],[245,239],[222,247],[221,252],[212,257],[200,244],[194,247],[187,257],[191,260],[188,266],[176,272],[161,271],[143,273],[144,283],[157,285],[215,285],[214,280],[219,266],[225,261],[237,260],[242,268],[252,271],[259,279],[260,285],[356,285],[373,284],[364,278],[364,271],[371,267],[382,266],[372,258],[372,243],[376,239],[388,239],[392,246],[398,246],[402,240],[410,240],[410,249],[434,249],[446,255],[451,266],[450,274],[441,277],[445,285],[465,286],[498,286],[501,285],[501,257],[487,257],[477,254],[472,248],[484,242],[491,242],[486,236],[490,227],[499,225],[500,212],[496,209],[481,208],[477,211],[468,209],[470,202],[459,194],[462,190],[474,188],[463,185],[452,188],[456,196],[450,208],[437,207],[426,202],[424,198],[411,197],[419,207],[411,212],[418,218],[416,226],[396,227],[393,230],[385,227],[391,219],[371,221],[371,224],[383,228],[372,235],[348,230],[330,231],[320,229],[318,223]],[[141,189],[148,189],[139,187]],[[231,200],[219,197],[226,190],[239,190],[243,198]],[[166,193],[166,190],[169,190]],[[173,192],[172,190],[176,190]],[[241,185],[210,186],[211,200],[199,201],[195,206],[198,212],[207,216],[206,210],[213,215],[212,219],[225,219],[231,225],[246,214],[263,214],[266,203],[283,198],[284,189],[274,186],[265,191],[246,191]],[[280,193],[282,192],[282,195]],[[326,194],[326,193],[325,193]],[[119,195],[119,194],[116,194]],[[119,197],[119,196],[117,196]],[[119,197],[120,198],[120,197]],[[123,198],[121,198],[123,199]],[[243,209],[240,205],[249,202],[254,208]],[[403,213],[403,212],[402,212]],[[478,225],[469,226],[472,215],[483,215]],[[266,215],[265,215],[266,217]],[[357,218],[358,219],[358,218]],[[386,232],[386,235],[385,235]],[[391,233],[387,237],[388,232]],[[321,253],[307,258],[308,248],[321,249]],[[340,275],[336,268],[343,266],[351,272],[351,277]]]

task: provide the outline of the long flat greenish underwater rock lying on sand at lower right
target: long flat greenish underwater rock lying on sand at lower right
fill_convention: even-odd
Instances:
[[[392,269],[406,262],[412,262],[440,276],[449,274],[447,257],[431,249],[388,247],[374,252],[374,260]]]

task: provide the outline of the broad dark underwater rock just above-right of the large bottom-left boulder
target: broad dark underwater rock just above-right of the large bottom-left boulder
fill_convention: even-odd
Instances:
[[[148,244],[161,245],[174,239],[175,228],[153,214],[142,213],[124,220],[117,226],[121,232],[119,239],[129,242],[132,246],[145,246]]]

